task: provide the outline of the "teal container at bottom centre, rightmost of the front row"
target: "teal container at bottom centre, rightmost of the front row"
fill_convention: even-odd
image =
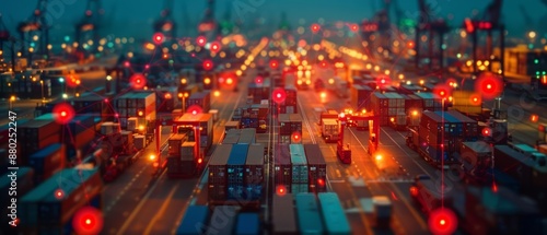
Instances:
[[[327,234],[351,234],[351,227],[338,195],[335,192],[321,192],[317,198],[319,199],[322,218]]]

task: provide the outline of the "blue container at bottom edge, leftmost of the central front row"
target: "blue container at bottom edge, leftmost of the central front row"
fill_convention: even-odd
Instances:
[[[176,235],[201,235],[209,224],[209,207],[190,204],[186,209],[183,221],[176,230]]]

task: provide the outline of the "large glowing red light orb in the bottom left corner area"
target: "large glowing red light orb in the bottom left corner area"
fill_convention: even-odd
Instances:
[[[84,207],[75,212],[72,227],[77,234],[98,234],[103,230],[103,214],[96,208]]]

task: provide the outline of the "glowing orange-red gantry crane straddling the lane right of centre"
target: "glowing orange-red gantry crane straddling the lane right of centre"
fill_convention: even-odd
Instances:
[[[379,116],[372,113],[365,114],[346,114],[341,113],[338,115],[338,128],[339,138],[336,145],[336,155],[345,164],[351,164],[351,148],[349,144],[344,143],[344,130],[346,129],[348,121],[369,121],[369,154],[373,154],[377,151],[379,137],[380,137],[380,120]],[[371,124],[372,122],[372,124]]]

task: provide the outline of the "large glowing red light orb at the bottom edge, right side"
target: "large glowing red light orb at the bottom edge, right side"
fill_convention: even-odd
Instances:
[[[429,215],[429,230],[435,235],[453,234],[457,228],[456,214],[446,208],[440,208]]]

